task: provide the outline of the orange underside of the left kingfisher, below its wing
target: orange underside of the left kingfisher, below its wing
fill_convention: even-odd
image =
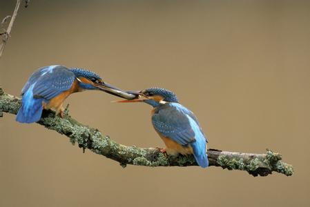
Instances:
[[[57,97],[50,99],[48,103],[43,103],[43,108],[55,110],[56,113],[59,114],[59,112],[62,112],[63,110],[62,103],[64,103],[66,98],[73,92],[78,92],[78,91],[80,91],[79,84],[77,83],[77,80],[75,80],[69,90],[66,90],[62,92],[60,95],[58,95]]]

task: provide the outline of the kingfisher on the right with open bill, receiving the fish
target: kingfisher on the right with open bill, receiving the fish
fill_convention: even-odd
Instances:
[[[135,95],[135,98],[117,102],[144,102],[153,106],[152,124],[166,145],[161,152],[167,155],[194,155],[199,166],[209,166],[206,135],[193,112],[179,103],[175,93],[164,88],[128,93]]]

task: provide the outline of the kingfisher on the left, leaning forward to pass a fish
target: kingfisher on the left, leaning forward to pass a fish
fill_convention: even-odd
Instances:
[[[102,90],[127,99],[135,97],[105,83],[99,75],[90,70],[59,65],[45,66],[35,71],[23,86],[21,108],[16,121],[21,123],[39,121],[43,108],[55,110],[56,115],[63,118],[64,100],[70,94],[83,90]]]

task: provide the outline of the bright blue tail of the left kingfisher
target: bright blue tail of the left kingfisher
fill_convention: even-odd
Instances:
[[[16,121],[21,123],[32,123],[39,121],[42,115],[42,101],[43,99],[34,99],[32,94],[33,86],[23,94],[23,99],[21,100],[21,108],[17,113]]]

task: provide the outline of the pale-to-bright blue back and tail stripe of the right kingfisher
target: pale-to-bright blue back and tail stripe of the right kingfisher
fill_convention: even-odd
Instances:
[[[190,116],[186,116],[191,124],[191,128],[195,132],[196,141],[191,143],[195,160],[199,166],[206,168],[209,166],[208,155],[206,155],[206,138],[204,137],[204,134],[200,130],[200,126],[197,125],[196,121]]]

